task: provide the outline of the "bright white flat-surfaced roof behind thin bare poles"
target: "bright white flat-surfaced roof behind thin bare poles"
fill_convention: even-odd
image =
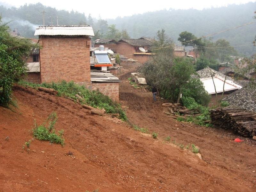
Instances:
[[[208,92],[208,94],[214,94],[215,89],[212,82],[212,77],[202,78],[200,79],[204,84],[204,89]],[[217,93],[223,92],[223,83],[225,78],[215,75],[213,77],[213,81],[216,87]],[[242,86],[235,84],[233,81],[226,79],[224,85],[224,91],[231,91],[236,89],[241,89]]]

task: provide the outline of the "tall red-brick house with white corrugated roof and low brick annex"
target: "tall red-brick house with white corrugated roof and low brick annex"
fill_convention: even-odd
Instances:
[[[91,71],[90,36],[94,36],[91,26],[39,26],[35,36],[39,36],[42,47],[39,51],[40,83],[74,81],[118,101],[120,80],[110,73],[98,73],[95,78]],[[102,55],[98,55],[100,65],[109,64],[100,63]]]

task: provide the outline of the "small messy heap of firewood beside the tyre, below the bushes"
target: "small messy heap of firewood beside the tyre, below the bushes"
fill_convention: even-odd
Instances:
[[[191,116],[191,115],[201,115],[197,114],[196,111],[187,109],[186,107],[183,107],[180,105],[180,103],[163,103],[163,107],[167,107],[168,112],[164,111],[166,115],[171,116],[174,119],[177,119],[177,117],[182,117],[186,119],[186,117]],[[183,114],[183,116],[177,115],[177,114]]]

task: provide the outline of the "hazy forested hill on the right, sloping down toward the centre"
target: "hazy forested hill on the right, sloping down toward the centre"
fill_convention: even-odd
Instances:
[[[118,29],[126,28],[133,38],[154,37],[157,30],[164,28],[175,42],[182,31],[189,31],[199,36],[205,36],[245,23],[256,21],[253,19],[256,2],[229,5],[227,7],[204,9],[202,11],[189,10],[161,10],[132,15],[130,17],[108,20],[108,24],[116,24]],[[231,45],[252,44],[256,35],[256,23],[227,32],[214,35],[213,41],[224,38]],[[252,46],[236,47],[239,52],[251,55],[256,52]]]

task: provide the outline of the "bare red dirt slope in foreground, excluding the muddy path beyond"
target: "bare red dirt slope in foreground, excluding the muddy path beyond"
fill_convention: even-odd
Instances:
[[[225,168],[70,100],[20,87],[14,95],[16,112],[0,108],[0,191],[255,191]],[[63,148],[32,139],[34,119],[41,124],[52,111]]]

